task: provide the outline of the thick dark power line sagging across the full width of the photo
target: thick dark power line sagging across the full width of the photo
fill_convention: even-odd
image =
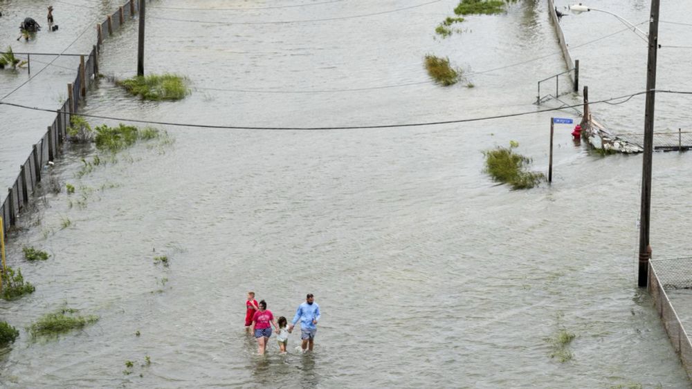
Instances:
[[[677,93],[677,94],[682,94],[682,95],[692,95],[692,91],[655,91],[656,93]],[[643,92],[637,92],[637,93],[630,93],[628,95],[623,95],[623,96],[618,96],[618,97],[611,97],[610,99],[602,99],[596,102],[590,102],[590,104],[601,104],[601,103],[606,103],[606,102],[612,102],[614,100],[619,100],[619,99],[625,99],[625,98],[631,98],[635,97],[638,95],[644,95],[646,91]],[[32,107],[32,106],[25,106],[22,104],[15,104],[15,103],[8,103],[8,102],[1,102],[0,105],[6,105],[6,106],[14,106],[17,108],[24,108],[24,109],[29,109],[32,111],[44,111],[44,112],[51,112],[51,113],[69,113],[67,111],[55,111],[53,109],[47,109],[47,108],[38,108],[38,107]],[[215,124],[189,124],[189,123],[174,123],[174,122],[156,122],[152,120],[140,120],[140,119],[129,119],[125,117],[113,117],[113,116],[104,116],[104,115],[91,115],[87,113],[72,113],[71,115],[77,115],[77,116],[82,116],[82,117],[93,117],[95,119],[104,119],[104,120],[117,120],[120,122],[133,122],[133,123],[143,123],[143,124],[158,124],[161,126],[180,126],[180,127],[193,127],[193,128],[200,128],[200,129],[227,129],[227,130],[268,130],[268,131],[329,131],[329,130],[357,130],[357,129],[394,129],[394,128],[401,128],[401,127],[419,127],[419,126],[437,126],[441,124],[457,124],[457,123],[468,123],[468,122],[480,122],[483,120],[495,120],[495,119],[504,119],[507,117],[518,117],[518,116],[525,116],[525,115],[534,115],[536,113],[545,113],[545,112],[553,112],[553,111],[560,111],[564,108],[575,108],[582,106],[583,104],[574,104],[571,106],[561,106],[558,108],[545,108],[545,109],[540,109],[538,111],[524,111],[524,112],[518,112],[518,113],[507,113],[503,115],[493,115],[493,116],[484,116],[484,117],[471,117],[468,119],[457,119],[457,120],[441,120],[437,122],[419,122],[419,123],[404,123],[404,124],[369,124],[369,125],[363,125],[363,126],[321,126],[321,127],[289,127],[289,126],[224,126],[224,125],[215,125]]]

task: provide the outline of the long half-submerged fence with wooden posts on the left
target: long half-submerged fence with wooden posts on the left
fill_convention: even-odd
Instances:
[[[109,15],[105,21],[96,26],[96,40],[89,56],[80,56],[80,65],[77,68],[75,81],[68,84],[69,96],[57,110],[53,124],[41,139],[32,146],[28,158],[19,167],[19,174],[15,182],[8,188],[7,197],[0,205],[0,217],[3,223],[3,234],[8,234],[12,227],[17,225],[17,217],[32,202],[36,193],[46,164],[53,161],[62,152],[62,144],[67,139],[67,128],[70,125],[71,113],[76,112],[80,102],[86,97],[86,89],[91,86],[93,80],[98,77],[98,59],[104,38],[113,35],[118,29],[134,17],[139,10],[138,3],[127,1],[116,12]],[[24,53],[15,53],[24,54]],[[36,55],[53,55],[49,53],[26,53]],[[84,64],[82,66],[82,64]]]

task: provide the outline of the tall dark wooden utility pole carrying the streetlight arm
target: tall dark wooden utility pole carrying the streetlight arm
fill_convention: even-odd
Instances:
[[[646,111],[644,113],[644,162],[641,169],[641,212],[639,224],[639,286],[648,282],[649,222],[651,215],[651,162],[653,160],[653,116],[656,97],[656,56],[658,51],[658,10],[660,0],[651,0],[646,66]]]

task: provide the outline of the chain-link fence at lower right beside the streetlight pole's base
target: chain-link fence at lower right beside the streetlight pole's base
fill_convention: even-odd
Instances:
[[[686,260],[684,263],[684,284],[692,285],[692,272],[690,271],[689,265],[692,263],[692,258],[677,258],[677,260]],[[677,262],[677,260],[675,260]],[[675,312],[675,308],[671,303],[666,289],[668,286],[662,279],[666,279],[671,272],[667,272],[665,267],[670,267],[676,265],[672,260],[650,260],[649,261],[649,272],[648,272],[648,290],[653,297],[654,304],[663,323],[663,327],[668,334],[668,338],[671,339],[671,344],[675,349],[675,352],[680,356],[680,361],[682,366],[684,366],[687,375],[692,379],[692,340],[690,339],[689,332],[686,332],[682,321],[680,321],[680,316]],[[677,272],[680,274],[679,272]],[[673,272],[675,274],[675,272]],[[674,276],[673,280],[679,278]],[[676,281],[673,281],[675,283]]]

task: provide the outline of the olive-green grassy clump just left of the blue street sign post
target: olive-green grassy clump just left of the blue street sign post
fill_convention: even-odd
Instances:
[[[526,170],[531,159],[514,153],[513,149],[518,146],[517,142],[512,141],[509,148],[498,147],[484,151],[486,173],[495,181],[511,184],[512,189],[533,188],[545,178],[545,175]]]

